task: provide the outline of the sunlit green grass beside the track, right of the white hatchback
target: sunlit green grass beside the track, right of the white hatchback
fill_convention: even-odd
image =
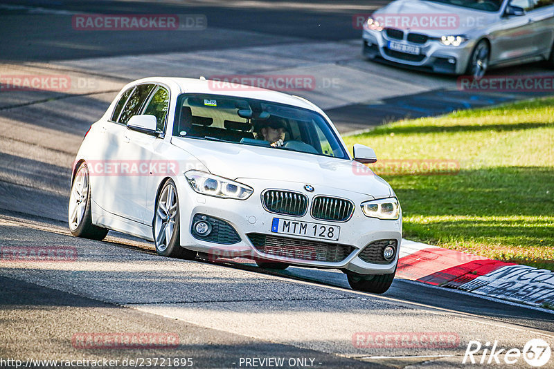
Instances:
[[[372,147],[381,162],[458,163],[457,173],[382,175],[400,199],[405,238],[554,270],[554,98],[404,120],[344,140]]]

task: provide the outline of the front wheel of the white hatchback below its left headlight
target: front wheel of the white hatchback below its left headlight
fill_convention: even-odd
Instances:
[[[168,180],[156,200],[156,212],[152,222],[156,252],[170,258],[193,259],[197,252],[180,245],[179,198],[172,180]]]

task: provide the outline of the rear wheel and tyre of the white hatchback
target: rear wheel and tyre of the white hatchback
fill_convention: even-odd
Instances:
[[[73,178],[69,194],[68,220],[69,230],[76,237],[103,240],[108,234],[105,228],[92,224],[91,187],[89,185],[89,169],[82,163]]]

